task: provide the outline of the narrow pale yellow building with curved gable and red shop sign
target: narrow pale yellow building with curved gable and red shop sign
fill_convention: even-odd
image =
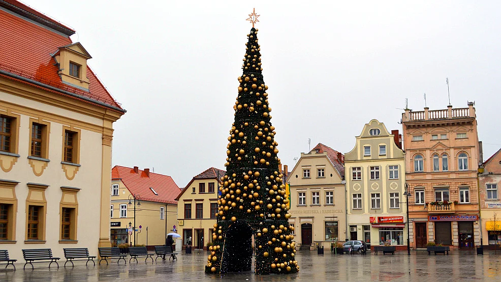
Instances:
[[[378,120],[365,124],[345,155],[350,240],[406,248],[405,159],[398,130]]]

